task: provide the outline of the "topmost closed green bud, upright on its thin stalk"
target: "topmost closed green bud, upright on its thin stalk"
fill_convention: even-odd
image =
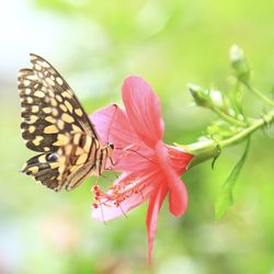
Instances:
[[[246,60],[243,50],[237,45],[231,46],[229,50],[229,59],[236,78],[240,82],[248,83],[250,78],[250,68]]]

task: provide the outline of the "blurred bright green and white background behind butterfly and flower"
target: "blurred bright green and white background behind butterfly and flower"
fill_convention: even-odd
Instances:
[[[0,273],[274,273],[273,133],[255,134],[236,204],[214,219],[214,203],[242,146],[183,175],[190,203],[175,219],[163,205],[147,263],[146,207],[106,225],[91,219],[94,179],[54,193],[18,170],[33,153],[21,139],[16,73],[28,54],[47,58],[87,112],[121,102],[128,75],[158,92],[167,142],[187,144],[214,118],[194,107],[186,84],[229,90],[228,49],[249,57],[254,85],[274,83],[274,2],[180,0],[11,0],[0,2]],[[262,105],[247,94],[247,109]],[[272,138],[270,138],[272,136]]]

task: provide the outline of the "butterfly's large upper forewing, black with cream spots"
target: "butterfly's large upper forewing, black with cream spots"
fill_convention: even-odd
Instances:
[[[31,60],[32,69],[19,71],[21,128],[26,147],[39,152],[57,151],[72,132],[85,132],[99,139],[94,125],[57,70],[37,55],[31,55]]]

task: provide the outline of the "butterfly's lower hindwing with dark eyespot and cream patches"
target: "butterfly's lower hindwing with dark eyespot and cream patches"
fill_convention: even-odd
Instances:
[[[71,191],[93,173],[98,152],[99,142],[94,138],[76,133],[57,152],[31,158],[22,172],[56,192],[64,186]]]

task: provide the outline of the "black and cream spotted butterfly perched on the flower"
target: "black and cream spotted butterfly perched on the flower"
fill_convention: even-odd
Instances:
[[[58,192],[73,190],[90,175],[101,175],[113,144],[103,145],[72,89],[44,58],[31,54],[32,68],[18,75],[22,137],[39,152],[22,172]]]

